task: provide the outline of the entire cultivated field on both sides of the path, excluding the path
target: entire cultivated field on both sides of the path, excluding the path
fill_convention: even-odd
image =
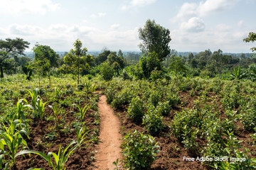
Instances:
[[[124,157],[117,169],[256,167],[252,81],[82,77],[77,85],[66,75],[43,79],[38,88],[25,79],[16,74],[0,82],[1,169],[97,168],[99,94],[120,122]]]

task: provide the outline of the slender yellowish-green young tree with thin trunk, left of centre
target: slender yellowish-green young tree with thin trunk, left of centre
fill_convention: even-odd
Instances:
[[[63,64],[62,69],[76,74],[79,84],[80,72],[82,72],[82,69],[89,69],[88,63],[92,62],[92,56],[86,54],[87,48],[82,48],[82,42],[79,39],[73,45],[74,49],[71,49],[64,57],[65,64]]]

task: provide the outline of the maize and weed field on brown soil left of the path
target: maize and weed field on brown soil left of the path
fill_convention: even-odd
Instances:
[[[92,93],[94,84],[86,93],[71,78],[53,78],[50,84],[43,80],[43,86],[38,88],[38,82],[16,76],[4,79],[0,86],[1,169],[91,169],[100,125],[98,94]],[[48,159],[32,153],[31,157],[23,154],[14,158],[20,150],[28,149],[46,155],[53,152],[55,156],[60,149],[60,157],[55,159],[52,155]]]

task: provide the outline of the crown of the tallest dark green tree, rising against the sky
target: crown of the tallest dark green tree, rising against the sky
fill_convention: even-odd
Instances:
[[[155,53],[159,61],[163,61],[171,52],[169,42],[170,31],[153,20],[147,20],[144,28],[139,28],[139,39],[143,40],[139,48],[144,54]]]

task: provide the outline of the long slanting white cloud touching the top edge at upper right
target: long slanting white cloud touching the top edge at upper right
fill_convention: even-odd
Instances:
[[[196,3],[184,3],[172,21],[184,21],[197,16],[208,16],[210,13],[222,12],[230,9],[240,0],[206,0]]]

